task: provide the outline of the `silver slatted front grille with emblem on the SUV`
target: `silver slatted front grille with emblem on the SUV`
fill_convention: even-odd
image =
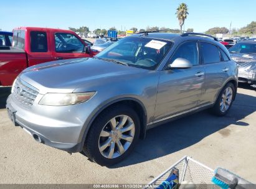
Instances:
[[[39,90],[22,81],[20,78],[17,78],[13,87],[13,94],[17,101],[24,106],[24,108],[31,108]]]

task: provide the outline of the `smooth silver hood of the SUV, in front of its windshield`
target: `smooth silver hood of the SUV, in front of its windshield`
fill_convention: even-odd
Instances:
[[[145,72],[135,67],[127,67],[95,58],[76,58],[42,63],[29,67],[20,75],[21,79],[39,89],[41,94],[49,92],[72,93],[81,85],[103,83],[108,78]]]

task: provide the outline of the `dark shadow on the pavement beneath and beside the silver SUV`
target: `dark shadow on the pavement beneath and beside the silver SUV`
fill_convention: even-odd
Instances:
[[[255,104],[256,98],[254,96],[237,93],[232,108],[224,117],[214,116],[206,110],[149,129],[146,133],[146,139],[138,142],[135,150],[128,158],[120,164],[109,168],[140,164],[141,162],[173,154],[196,144],[217,131],[222,136],[228,137],[229,132],[220,130],[230,124],[238,127],[249,126],[247,122],[240,120],[256,111]]]

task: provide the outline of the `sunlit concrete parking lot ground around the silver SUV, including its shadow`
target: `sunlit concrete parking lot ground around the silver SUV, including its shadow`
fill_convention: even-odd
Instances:
[[[1,90],[0,183],[148,183],[184,155],[256,182],[256,92],[247,86],[238,89],[227,116],[203,111],[151,129],[110,168],[39,144],[14,127],[4,109],[8,90]]]

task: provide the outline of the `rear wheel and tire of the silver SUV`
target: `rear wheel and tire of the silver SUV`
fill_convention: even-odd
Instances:
[[[232,96],[227,93],[227,91],[232,91]],[[224,97],[225,96],[225,97]],[[235,87],[232,83],[227,83],[227,85],[222,88],[220,94],[216,100],[216,103],[212,107],[212,113],[216,114],[217,116],[225,116],[229,112],[231,108],[235,96]]]

